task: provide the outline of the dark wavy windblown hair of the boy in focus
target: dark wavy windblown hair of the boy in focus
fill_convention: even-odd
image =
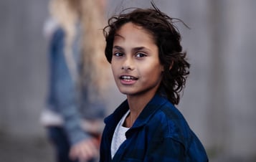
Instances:
[[[108,19],[108,26],[103,29],[106,40],[105,57],[111,63],[115,33],[123,24],[132,22],[143,27],[153,35],[158,46],[161,65],[164,67],[158,93],[165,95],[174,105],[178,105],[179,92],[185,87],[190,64],[186,61],[186,52],[182,51],[181,34],[174,23],[181,22],[184,24],[184,22],[181,19],[169,17],[161,12],[155,4],[152,2],[151,4],[153,6],[151,9],[129,8],[122,11],[118,16]],[[125,13],[130,9],[133,10]],[[184,25],[186,26],[186,24]]]

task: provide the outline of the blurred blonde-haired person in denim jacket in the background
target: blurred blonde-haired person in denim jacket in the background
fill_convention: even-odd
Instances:
[[[100,30],[104,11],[104,0],[49,1],[50,19],[44,26],[49,41],[49,96],[40,120],[58,162],[98,159],[110,80]]]

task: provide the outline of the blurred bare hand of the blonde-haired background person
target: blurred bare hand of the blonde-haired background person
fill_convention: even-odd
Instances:
[[[98,140],[89,138],[71,147],[70,158],[74,161],[79,160],[80,162],[86,162],[97,157],[98,153]]]

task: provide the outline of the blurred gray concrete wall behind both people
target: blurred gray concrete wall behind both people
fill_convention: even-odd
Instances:
[[[148,0],[108,1],[107,17],[127,6],[150,6]],[[256,1],[155,3],[191,28],[179,24],[191,62],[179,109],[211,161],[255,161]],[[1,1],[0,16],[0,133],[44,136],[38,120],[47,93],[47,1]]]

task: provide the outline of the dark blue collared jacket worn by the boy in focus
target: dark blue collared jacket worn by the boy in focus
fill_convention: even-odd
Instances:
[[[126,140],[111,159],[110,146],[116,125],[128,111],[125,100],[115,112],[105,118],[100,146],[100,162],[208,161],[204,147],[189,128],[183,115],[169,100],[155,95],[125,133]]]

